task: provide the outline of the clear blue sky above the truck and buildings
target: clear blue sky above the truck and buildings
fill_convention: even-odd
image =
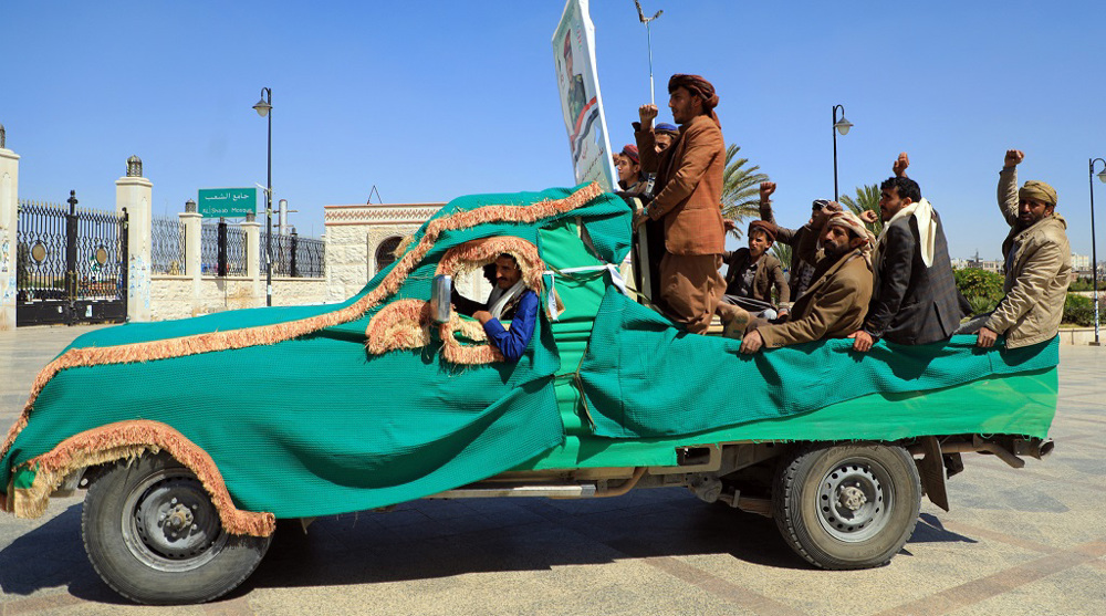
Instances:
[[[782,223],[833,195],[826,112],[839,103],[855,124],[838,137],[843,194],[885,179],[907,150],[952,255],[998,258],[994,185],[1018,147],[1021,179],[1057,189],[1073,250],[1091,253],[1106,4],[643,3],[665,10],[653,25],[658,102],[675,72],[711,80],[727,142],[779,184]],[[263,86],[274,195],[299,210],[301,233],[320,234],[322,206],[363,203],[373,185],[386,202],[568,185],[550,48],[563,7],[9,0],[0,123],[22,157],[20,198],[75,189],[83,206],[113,208],[132,154],[156,216],[197,188],[264,184],[265,121],[251,109]],[[648,102],[646,34],[632,0],[593,0],[592,19],[617,147]],[[1095,186],[1102,210],[1106,185]],[[1096,222],[1102,239],[1106,218]]]

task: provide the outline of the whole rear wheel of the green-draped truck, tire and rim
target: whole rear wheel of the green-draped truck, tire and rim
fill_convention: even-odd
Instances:
[[[780,468],[772,509],[784,541],[812,564],[875,567],[914,534],[921,481],[901,447],[813,446]]]

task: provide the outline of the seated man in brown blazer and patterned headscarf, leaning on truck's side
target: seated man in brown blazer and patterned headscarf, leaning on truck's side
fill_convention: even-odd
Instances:
[[[741,353],[757,353],[822,338],[843,338],[855,332],[872,300],[872,265],[867,251],[872,234],[856,215],[834,213],[822,230],[825,257],[814,269],[814,281],[791,309],[785,323],[754,322],[741,341]]]

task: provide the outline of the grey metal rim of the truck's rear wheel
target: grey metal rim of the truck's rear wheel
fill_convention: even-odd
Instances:
[[[818,484],[818,522],[832,536],[865,541],[887,525],[895,488],[883,466],[852,458],[830,469]]]

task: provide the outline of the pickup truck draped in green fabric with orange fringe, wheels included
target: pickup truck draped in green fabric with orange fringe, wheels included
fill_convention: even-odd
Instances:
[[[924,494],[948,509],[961,453],[1020,467],[1051,449],[1055,340],[741,355],[627,288],[632,216],[595,186],[462,197],[343,303],[85,334],[9,430],[0,504],[35,516],[87,489],[94,567],[150,604],[240,584],[278,519],[424,498],[686,488],[844,570],[890,561]],[[518,362],[448,303],[449,281],[504,252],[542,304]]]

